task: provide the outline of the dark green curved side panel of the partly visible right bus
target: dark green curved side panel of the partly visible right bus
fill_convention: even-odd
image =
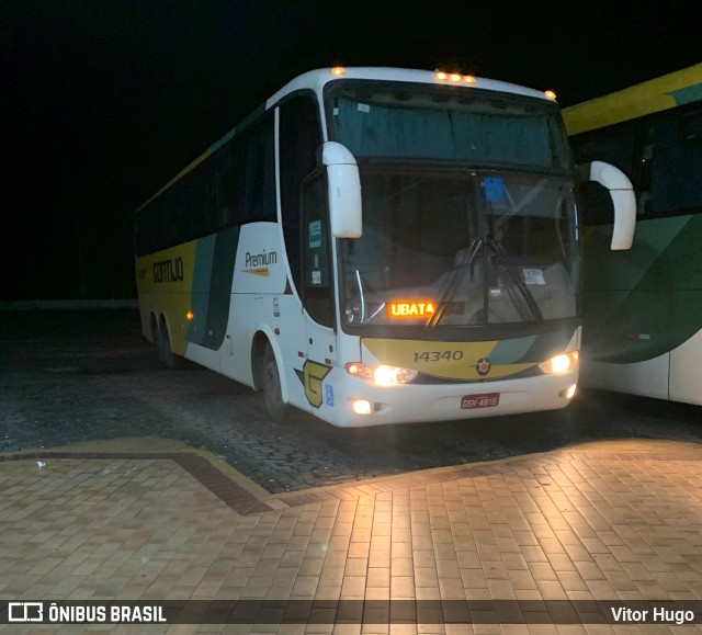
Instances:
[[[611,225],[592,229],[584,290],[584,350],[590,359],[643,362],[700,330],[702,290],[694,281],[702,280],[702,215],[639,223],[630,253],[607,249],[599,233],[611,233]]]

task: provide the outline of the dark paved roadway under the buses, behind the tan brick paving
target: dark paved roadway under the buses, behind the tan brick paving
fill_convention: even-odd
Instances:
[[[0,452],[122,436],[210,450],[269,491],[519,456],[597,439],[702,442],[699,408],[584,393],[564,411],[339,430],[279,426],[249,388],[160,367],[134,310],[0,313]]]

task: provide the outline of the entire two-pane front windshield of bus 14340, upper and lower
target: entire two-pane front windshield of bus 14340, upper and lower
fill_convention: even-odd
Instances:
[[[576,317],[576,211],[556,104],[426,84],[330,91],[330,138],[356,157],[363,197],[363,235],[338,250],[344,325]]]

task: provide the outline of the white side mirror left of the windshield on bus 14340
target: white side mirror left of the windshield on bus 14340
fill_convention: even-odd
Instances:
[[[361,177],[353,155],[337,141],[326,141],[321,162],[327,167],[331,235],[360,238],[363,231]]]

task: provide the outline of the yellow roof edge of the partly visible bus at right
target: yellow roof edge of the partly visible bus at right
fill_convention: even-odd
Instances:
[[[702,64],[563,110],[569,135],[702,100]]]

